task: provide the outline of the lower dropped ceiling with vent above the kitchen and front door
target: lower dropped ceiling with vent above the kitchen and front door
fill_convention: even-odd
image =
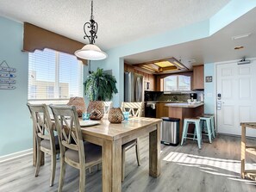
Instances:
[[[137,53],[124,59],[129,64],[140,64],[155,59],[175,57],[181,59],[184,65],[191,68],[191,65],[241,59],[242,57],[256,58],[255,18],[256,8],[208,38],[167,46],[145,53]],[[232,40],[233,36],[240,34],[251,35],[246,38]],[[244,46],[244,48],[234,50],[235,46]],[[191,64],[189,62],[191,59],[194,59],[195,63]]]

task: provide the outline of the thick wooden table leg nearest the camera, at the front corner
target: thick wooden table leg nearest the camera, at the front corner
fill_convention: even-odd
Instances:
[[[103,192],[122,191],[122,140],[103,140]]]

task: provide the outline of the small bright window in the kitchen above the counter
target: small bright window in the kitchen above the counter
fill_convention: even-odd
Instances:
[[[190,76],[176,75],[164,78],[164,91],[190,90]]]

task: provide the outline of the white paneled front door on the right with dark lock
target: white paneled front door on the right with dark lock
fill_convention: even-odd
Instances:
[[[217,65],[217,131],[240,135],[240,122],[256,121],[256,60]],[[256,137],[247,129],[247,136]]]

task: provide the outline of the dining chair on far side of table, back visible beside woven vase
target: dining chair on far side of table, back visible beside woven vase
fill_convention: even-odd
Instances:
[[[142,115],[142,102],[122,102],[122,112],[128,111],[132,117],[140,117]],[[135,146],[136,158],[138,166],[140,166],[139,139],[133,139],[122,145],[122,182],[125,175],[125,152]]]

